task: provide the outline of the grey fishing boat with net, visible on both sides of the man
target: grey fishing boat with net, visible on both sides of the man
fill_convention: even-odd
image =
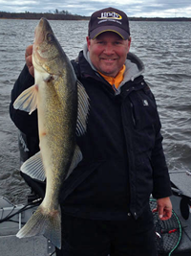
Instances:
[[[21,162],[26,159],[28,152],[25,135],[19,135]],[[43,236],[18,239],[16,233],[31,218],[33,212],[42,201],[45,184],[23,176],[32,189],[28,201],[14,205],[8,198],[0,196],[0,251],[3,256],[55,256],[55,248],[51,241]],[[158,213],[154,213],[156,226],[156,243],[159,256],[162,255],[191,255],[191,173],[171,172],[173,196],[173,216],[168,221],[160,221]],[[157,202],[150,198],[151,209]],[[91,256],[91,255],[90,255]]]

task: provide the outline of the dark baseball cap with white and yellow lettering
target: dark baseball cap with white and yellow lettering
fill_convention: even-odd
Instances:
[[[115,8],[109,7],[92,14],[89,22],[89,36],[95,39],[103,32],[115,32],[124,40],[130,36],[129,20],[127,15]]]

